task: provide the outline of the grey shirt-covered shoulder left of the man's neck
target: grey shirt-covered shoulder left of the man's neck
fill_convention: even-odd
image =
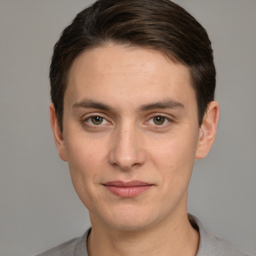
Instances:
[[[46,250],[36,256],[76,256],[87,255],[86,240],[90,229],[88,229],[81,237],[73,238],[56,247]]]

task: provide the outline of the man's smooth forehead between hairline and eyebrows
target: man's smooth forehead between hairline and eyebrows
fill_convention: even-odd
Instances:
[[[126,106],[163,97],[195,101],[188,67],[157,50],[114,44],[87,50],[74,60],[64,102],[83,97]]]

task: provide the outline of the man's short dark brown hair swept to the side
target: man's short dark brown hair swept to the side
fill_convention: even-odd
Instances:
[[[169,0],[97,0],[76,15],[54,46],[49,77],[61,131],[64,92],[74,59],[108,42],[159,50],[189,67],[200,126],[214,99],[216,74],[205,29]]]

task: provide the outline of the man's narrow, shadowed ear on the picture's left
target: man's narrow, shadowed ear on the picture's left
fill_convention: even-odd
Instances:
[[[55,144],[58,149],[58,155],[63,161],[66,161],[67,158],[66,158],[66,150],[65,150],[63,135],[60,131],[60,127],[59,127],[59,123],[57,120],[55,107],[53,103],[50,103],[49,109],[50,109],[50,125],[51,125],[52,133],[54,136]]]

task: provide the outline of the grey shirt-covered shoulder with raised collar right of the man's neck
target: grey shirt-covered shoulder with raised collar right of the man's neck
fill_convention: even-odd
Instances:
[[[248,256],[240,252],[226,240],[207,232],[195,216],[188,214],[188,219],[193,227],[197,227],[200,235],[199,247],[196,256]]]

